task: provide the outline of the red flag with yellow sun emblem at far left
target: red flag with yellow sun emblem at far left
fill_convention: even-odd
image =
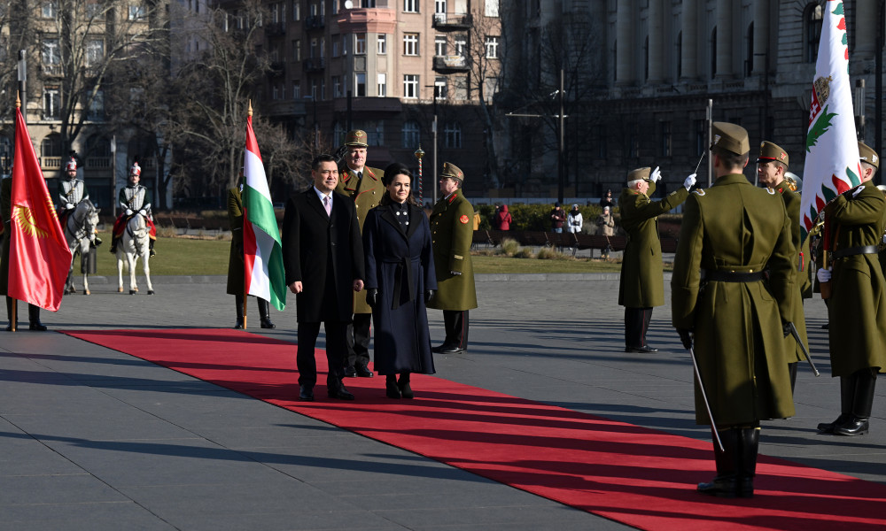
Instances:
[[[19,108],[15,111],[10,207],[7,295],[56,312],[71,268],[71,250]]]

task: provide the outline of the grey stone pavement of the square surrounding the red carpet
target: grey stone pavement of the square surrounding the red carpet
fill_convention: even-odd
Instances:
[[[233,324],[221,277],[152,280],[157,295],[128,296],[95,279],[93,295],[66,296],[43,322]],[[661,351],[638,355],[623,351],[618,275],[481,275],[478,299],[470,350],[435,358],[439,377],[710,440],[669,300],[649,332]],[[835,418],[839,385],[825,306],[805,310],[822,376],[800,367],[797,417],[767,422],[761,453],[884,482],[882,386],[870,435],[815,433]],[[429,316],[440,339],[441,314]],[[276,330],[250,331],[294,342],[294,304],[272,317]],[[0,358],[2,529],[630,528],[66,335],[0,332]]]

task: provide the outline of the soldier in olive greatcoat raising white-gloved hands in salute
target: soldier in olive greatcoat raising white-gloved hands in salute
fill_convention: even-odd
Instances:
[[[627,174],[627,187],[618,197],[621,225],[627,232],[627,246],[621,262],[618,304],[625,306],[625,351],[657,352],[646,342],[652,308],[664,304],[662,244],[658,239],[658,216],[686,201],[696,174],[683,181],[683,187],[661,201],[652,201],[658,168],[638,168]]]

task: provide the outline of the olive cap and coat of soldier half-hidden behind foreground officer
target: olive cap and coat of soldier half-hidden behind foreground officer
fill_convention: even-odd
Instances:
[[[760,155],[757,158],[757,163],[760,164],[772,161],[781,163],[784,165],[784,170],[788,170],[788,153],[773,142],[761,142]],[[789,182],[784,179],[775,186],[769,188],[773,189],[776,194],[781,196],[781,200],[784,201],[784,208],[785,211],[788,212],[788,218],[790,219],[790,241],[793,243],[794,249],[797,250],[797,256],[795,258],[796,266],[794,270],[794,286],[797,289],[794,290],[794,294],[791,296],[793,299],[790,305],[791,314],[786,316],[785,320],[794,323],[794,327],[797,328],[797,335],[800,336],[800,340],[804,345],[808,345],[809,339],[806,335],[806,317],[803,312],[803,291],[807,288],[809,275],[804,269],[806,265],[804,263],[804,254],[802,252],[803,247],[800,242],[800,194],[794,189],[791,189]],[[808,254],[808,246],[806,252]],[[797,381],[797,363],[804,361],[806,357],[803,353],[803,349],[800,347],[799,343],[797,343],[797,340],[793,335],[788,335],[784,338],[784,341],[787,342],[785,354],[788,357],[790,389],[793,390],[794,383]]]

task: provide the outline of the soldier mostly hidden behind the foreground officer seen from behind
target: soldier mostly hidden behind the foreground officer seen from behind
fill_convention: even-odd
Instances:
[[[767,189],[774,190],[776,194],[784,200],[784,208],[788,212],[790,218],[790,241],[797,250],[796,266],[794,271],[794,296],[791,302],[791,315],[788,316],[790,322],[797,327],[797,335],[800,336],[804,345],[809,344],[806,338],[806,318],[803,312],[803,289],[806,285],[804,278],[806,277],[805,260],[802,254],[800,244],[800,194],[791,183],[787,181],[785,175],[788,172],[788,153],[782,150],[773,142],[760,143],[760,155],[757,158],[757,179],[760,185]],[[788,342],[788,370],[790,372],[790,389],[793,392],[794,385],[797,382],[797,363],[804,361],[803,349],[792,335],[785,338]]]

